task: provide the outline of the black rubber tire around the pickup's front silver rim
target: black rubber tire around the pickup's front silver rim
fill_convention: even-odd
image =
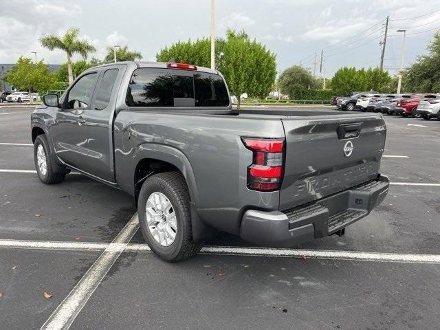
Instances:
[[[46,164],[46,173],[42,173],[39,167],[37,151],[39,149],[39,145],[43,146],[43,150],[45,153],[45,164]],[[68,173],[68,170],[56,164],[53,155],[50,153],[50,147],[47,143],[46,135],[41,134],[36,137],[34,142],[34,163],[36,168],[36,173],[39,175],[39,178],[43,184],[59,184],[62,182]]]

